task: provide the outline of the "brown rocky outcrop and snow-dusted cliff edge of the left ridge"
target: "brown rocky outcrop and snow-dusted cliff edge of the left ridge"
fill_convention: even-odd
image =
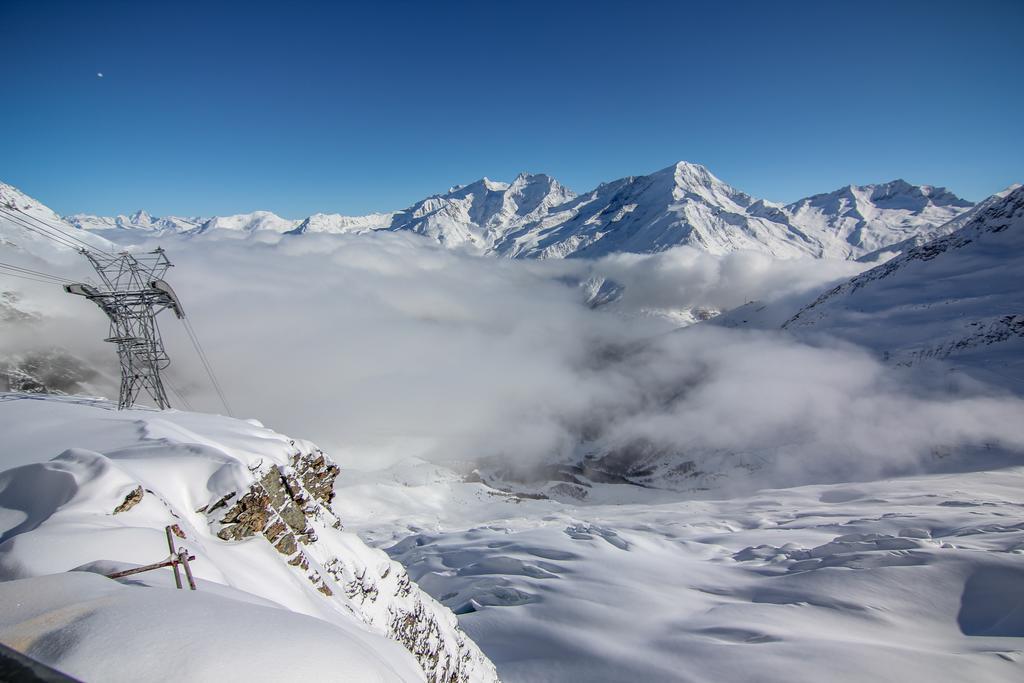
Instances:
[[[331,509],[338,467],[318,449],[296,447],[290,464],[257,466],[245,490],[201,508],[223,541],[262,537],[325,599],[344,605],[400,642],[432,683],[497,681],[494,665],[446,607],[378,550],[352,542]]]

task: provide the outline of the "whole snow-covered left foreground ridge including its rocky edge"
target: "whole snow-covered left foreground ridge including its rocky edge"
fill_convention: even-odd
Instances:
[[[0,394],[0,431],[5,644],[90,680],[174,677],[158,656],[168,648],[199,652],[201,680],[264,666],[258,680],[496,680],[451,612],[342,530],[337,468],[313,444],[255,421],[27,394]],[[173,586],[169,569],[120,582],[62,573],[164,559],[168,524],[197,556],[197,595],[137,592]],[[140,628],[178,605],[168,632]],[[147,649],[168,633],[180,640]],[[119,642],[139,649],[111,656]],[[272,655],[250,651],[272,642]]]

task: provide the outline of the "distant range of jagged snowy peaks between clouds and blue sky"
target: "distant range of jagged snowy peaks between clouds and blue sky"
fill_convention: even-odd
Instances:
[[[512,258],[587,258],[653,253],[686,245],[712,254],[753,250],[781,257],[877,258],[947,234],[974,205],[944,187],[904,180],[848,185],[782,205],[756,199],[707,168],[680,162],[650,175],[577,195],[544,174],[512,182],[482,178],[413,206],[366,216],[267,211],[215,217],[75,214],[65,220],[113,242],[209,234],[409,231],[445,247]]]

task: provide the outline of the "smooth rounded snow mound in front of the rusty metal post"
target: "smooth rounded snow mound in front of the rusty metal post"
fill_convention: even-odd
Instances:
[[[0,641],[84,681],[421,681],[400,646],[217,584],[68,571],[0,582]]]

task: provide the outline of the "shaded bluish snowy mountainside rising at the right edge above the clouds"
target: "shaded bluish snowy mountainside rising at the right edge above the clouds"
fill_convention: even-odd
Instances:
[[[1024,187],[986,202],[956,231],[818,297],[784,324],[897,365],[942,360],[1024,390]]]

